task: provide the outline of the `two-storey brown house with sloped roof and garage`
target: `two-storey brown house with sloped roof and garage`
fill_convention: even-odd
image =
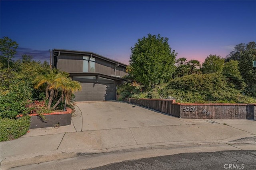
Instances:
[[[52,54],[52,67],[80,81],[76,101],[116,100],[116,86],[126,80],[126,64],[88,51],[53,49]]]

